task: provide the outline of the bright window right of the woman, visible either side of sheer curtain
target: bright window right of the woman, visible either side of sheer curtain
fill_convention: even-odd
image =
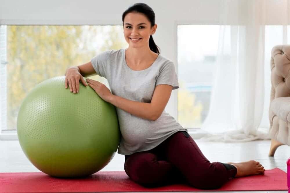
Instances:
[[[225,37],[230,40],[230,27]],[[290,26],[283,34],[282,25],[265,26],[264,111],[260,127],[269,128],[269,101],[271,91],[271,50],[283,43],[283,35],[290,37]],[[290,43],[288,38],[288,44]],[[183,127],[200,128],[209,113],[211,91],[218,51],[219,25],[178,25],[178,121]],[[230,54],[230,42],[225,43],[224,52]]]

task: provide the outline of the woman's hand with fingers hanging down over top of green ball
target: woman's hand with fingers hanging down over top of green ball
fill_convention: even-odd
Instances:
[[[78,67],[70,67],[66,69],[66,73],[64,74],[66,76],[65,79],[65,86],[66,89],[68,88],[68,85],[70,87],[70,92],[73,91],[73,93],[79,92],[79,81],[81,80],[81,83],[84,84],[84,86],[88,86],[86,81],[84,80],[84,77],[81,76],[81,73],[79,73]]]

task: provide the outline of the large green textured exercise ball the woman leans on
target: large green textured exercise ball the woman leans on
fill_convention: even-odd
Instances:
[[[24,154],[40,171],[75,178],[104,168],[121,133],[115,106],[81,82],[79,93],[70,92],[65,76],[59,76],[41,82],[24,98],[17,135]]]

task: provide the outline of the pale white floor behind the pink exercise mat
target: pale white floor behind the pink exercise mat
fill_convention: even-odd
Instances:
[[[280,146],[274,157],[269,157],[269,140],[246,143],[201,142],[199,139],[195,139],[195,141],[203,154],[211,162],[241,162],[253,159],[259,161],[266,170],[277,167],[287,172],[286,161],[290,157],[290,147],[286,145]],[[100,171],[124,171],[124,160],[124,155],[116,153],[110,163]],[[0,140],[0,172],[41,171],[35,168],[26,158],[18,141]],[[258,193],[257,191],[254,192]],[[286,193],[287,191],[270,192]]]

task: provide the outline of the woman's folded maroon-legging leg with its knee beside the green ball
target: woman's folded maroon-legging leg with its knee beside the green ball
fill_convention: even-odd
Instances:
[[[168,161],[162,160],[156,148],[125,155],[124,169],[136,183],[145,187],[158,187],[171,183],[183,182],[180,171]]]

